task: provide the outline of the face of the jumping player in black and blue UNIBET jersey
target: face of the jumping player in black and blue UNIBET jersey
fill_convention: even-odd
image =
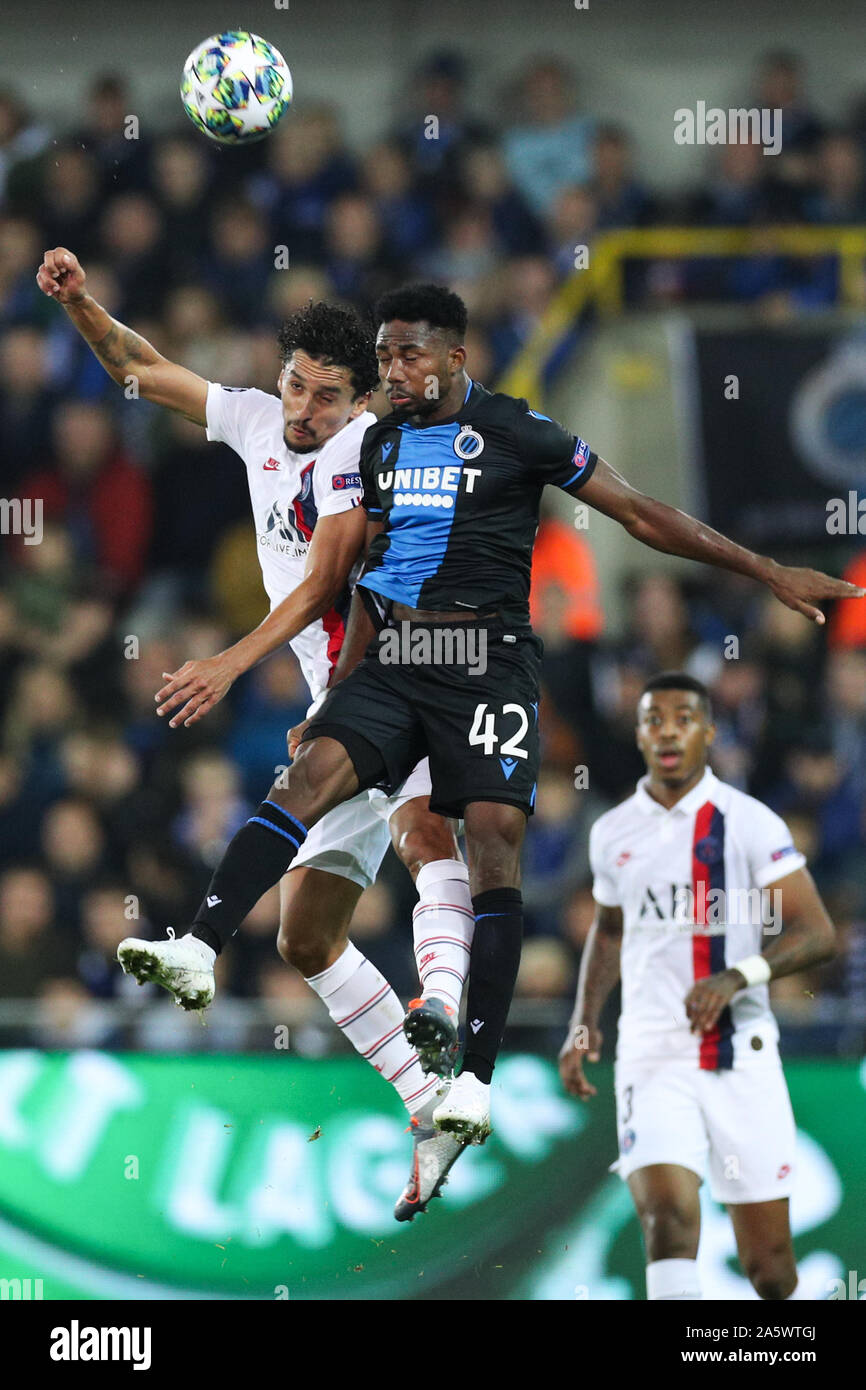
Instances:
[[[375,356],[396,414],[446,417],[463,404],[466,348],[456,346],[443,328],[392,318],[379,327]]]

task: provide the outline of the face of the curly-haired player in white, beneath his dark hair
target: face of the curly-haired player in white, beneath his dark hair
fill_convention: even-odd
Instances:
[[[296,348],[277,382],[282,399],[282,438],[295,453],[316,453],[367,409],[356,396],[349,367],[327,366]]]

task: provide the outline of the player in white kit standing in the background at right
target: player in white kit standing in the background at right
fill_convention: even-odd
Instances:
[[[701,681],[646,682],[646,776],[589,833],[598,910],[559,1068],[573,1095],[596,1094],[584,1063],[621,977],[614,1166],[644,1232],[646,1297],[701,1298],[709,1169],[758,1295],[792,1298],[796,1131],[767,984],[827,960],[834,930],[784,820],[712,773],[713,735]]]

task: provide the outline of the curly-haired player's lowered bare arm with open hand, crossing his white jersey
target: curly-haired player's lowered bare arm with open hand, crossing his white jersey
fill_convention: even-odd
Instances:
[[[324,617],[346,588],[363,542],[361,507],[320,517],[310,541],[304,577],[297,588],[234,646],[217,656],[185,662],[177,671],[164,671],[168,682],[156,696],[157,714],[171,714],[174,710],[168,721],[171,728],[195,724],[228,694],[243,671],[291,642],[309,623]]]

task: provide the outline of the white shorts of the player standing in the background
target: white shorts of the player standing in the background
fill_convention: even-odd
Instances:
[[[649,1163],[678,1163],[717,1202],[790,1197],[796,1127],[776,1048],[741,1070],[702,1072],[689,1059],[617,1062],[620,1156],[628,1179]]]

